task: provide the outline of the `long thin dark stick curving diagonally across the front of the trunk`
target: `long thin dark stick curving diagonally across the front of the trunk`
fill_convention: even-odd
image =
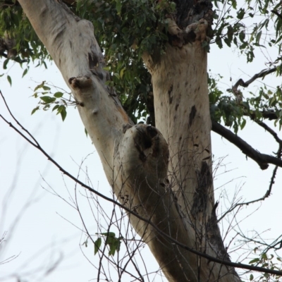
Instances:
[[[4,103],[6,105],[6,108],[8,109],[8,112],[11,114],[11,111],[8,108],[8,104],[6,104],[6,100],[5,100],[1,90],[0,90],[0,94],[1,94],[2,99],[4,100]],[[166,233],[164,233],[164,231],[161,231],[161,229],[159,229],[154,223],[152,223],[152,221],[149,221],[148,219],[145,219],[144,217],[140,216],[139,214],[137,214],[137,213],[133,212],[132,210],[128,209],[128,207],[124,207],[119,202],[117,202],[117,201],[115,201],[115,200],[113,200],[113,199],[111,199],[109,197],[106,197],[103,194],[101,194],[100,192],[98,192],[97,190],[94,190],[90,186],[85,185],[85,183],[82,183],[80,180],[78,180],[77,178],[72,176],[71,173],[68,173],[68,171],[64,170],[54,159],[52,159],[49,156],[49,154],[47,154],[47,152],[44,151],[44,149],[42,149],[42,147],[39,145],[39,143],[37,142],[35,137],[33,137],[29,133],[29,131],[27,129],[25,129],[23,127],[23,125],[21,125],[18,122],[18,120],[13,116],[13,114],[11,114],[11,116],[14,119],[14,121],[16,121],[16,123],[20,126],[20,128],[22,128],[22,130],[24,130],[25,133],[27,133],[27,135],[29,135],[32,138],[32,140],[34,140],[34,142],[32,142],[28,137],[26,137],[23,133],[21,133],[20,130],[18,130],[18,128],[16,128],[11,122],[7,121],[6,118],[4,118],[4,116],[2,116],[0,114],[0,118],[2,118],[8,125],[10,125],[10,127],[13,128],[13,130],[15,130],[25,140],[27,140],[27,142],[29,142],[33,147],[39,149],[39,151],[42,152],[42,154],[44,154],[44,156],[47,157],[47,159],[49,161],[51,161],[51,163],[53,163],[57,168],[59,168],[59,170],[63,174],[65,174],[66,176],[68,176],[69,178],[74,180],[76,183],[80,184],[83,188],[89,190],[90,192],[93,192],[94,194],[98,195],[99,197],[102,197],[104,200],[107,200],[109,202],[112,202],[112,203],[116,204],[118,207],[121,207],[126,212],[129,212],[130,214],[133,214],[133,216],[136,216],[138,219],[141,219],[142,221],[150,224],[159,233],[159,235],[162,235],[164,238],[167,238],[168,240],[171,241],[171,243],[174,243],[174,244],[178,245],[179,247],[182,247],[184,250],[188,250],[189,252],[192,252],[195,255],[199,255],[200,257],[204,257],[205,259],[208,259],[210,262],[216,262],[216,263],[219,263],[219,264],[224,264],[224,265],[227,265],[227,266],[237,267],[237,268],[240,268],[240,269],[248,269],[248,270],[253,270],[253,271],[264,272],[264,273],[267,273],[267,274],[274,274],[274,275],[282,276],[282,271],[277,271],[277,270],[274,270],[274,269],[266,269],[264,267],[252,266],[252,265],[248,265],[248,264],[240,264],[240,263],[236,263],[236,262],[228,262],[226,260],[218,259],[216,257],[212,257],[210,255],[204,254],[203,252],[199,252],[197,250],[194,250],[194,249],[188,247],[187,245],[184,245],[183,243],[178,242],[178,240],[176,240],[174,238],[171,238],[171,236],[169,236]]]

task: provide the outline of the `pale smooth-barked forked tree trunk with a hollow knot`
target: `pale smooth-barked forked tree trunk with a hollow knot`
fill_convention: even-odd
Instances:
[[[19,0],[78,102],[118,201],[190,248],[227,260],[212,181],[207,95],[207,24],[194,24],[195,41],[167,45],[144,61],[152,74],[156,126],[133,125],[113,90],[87,20],[57,0]],[[169,151],[169,157],[168,157]],[[128,214],[168,281],[239,281],[233,269],[184,250]]]

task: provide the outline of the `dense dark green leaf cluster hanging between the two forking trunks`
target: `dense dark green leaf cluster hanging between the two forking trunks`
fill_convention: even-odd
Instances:
[[[142,54],[164,51],[168,40],[166,15],[174,9],[175,4],[168,0],[80,0],[73,8],[78,16],[93,23],[95,37],[105,51],[110,83],[135,123],[145,121],[152,92]]]

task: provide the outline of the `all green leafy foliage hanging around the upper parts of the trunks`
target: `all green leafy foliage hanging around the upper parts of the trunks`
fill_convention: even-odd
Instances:
[[[0,6],[0,37],[6,35],[16,40],[15,61],[27,67],[30,61],[45,65],[49,54],[32,30],[20,6]],[[111,86],[116,88],[125,111],[135,123],[145,122],[148,115],[149,97],[152,97],[151,78],[142,63],[144,52],[165,52],[168,42],[167,18],[176,14],[177,1],[172,0],[78,0],[71,6],[73,13],[90,20],[100,47],[104,51],[107,67],[111,74]],[[276,66],[281,75],[282,6],[274,0],[213,0],[214,25],[212,41],[219,48],[235,47],[251,63],[258,49],[274,49],[276,58],[266,61]],[[271,50],[272,50],[271,49]],[[272,52],[274,53],[274,52]],[[11,59],[4,60],[4,69]],[[12,84],[12,78],[7,74]],[[223,92],[217,87],[221,77],[209,78],[209,99],[211,115],[215,121],[232,126],[235,133],[243,129],[247,116],[255,120],[266,118],[265,113],[276,115],[275,124],[281,128],[281,87],[274,90],[265,86],[258,94],[241,93],[243,100],[238,103],[232,90]],[[240,90],[241,91],[241,90]],[[66,99],[48,96],[41,92],[37,109],[52,109],[66,117]],[[38,95],[34,95],[39,97]],[[62,104],[57,104],[58,102]],[[64,102],[63,102],[64,101]]]

